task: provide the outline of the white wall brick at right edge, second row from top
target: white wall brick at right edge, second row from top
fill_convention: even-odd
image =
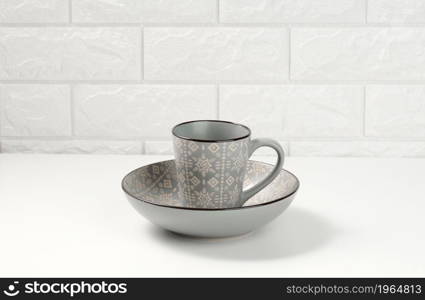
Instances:
[[[425,28],[302,28],[291,34],[296,80],[425,80]]]

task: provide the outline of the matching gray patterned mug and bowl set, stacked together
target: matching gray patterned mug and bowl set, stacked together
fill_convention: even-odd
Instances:
[[[299,187],[283,170],[278,142],[251,139],[248,127],[199,120],[172,129],[174,160],[127,174],[122,188],[131,205],[152,223],[197,237],[229,237],[251,232],[279,216]],[[249,160],[259,147],[277,153],[276,164]]]

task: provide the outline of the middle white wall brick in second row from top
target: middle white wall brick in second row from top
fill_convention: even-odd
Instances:
[[[147,80],[284,80],[288,33],[275,28],[146,28]]]

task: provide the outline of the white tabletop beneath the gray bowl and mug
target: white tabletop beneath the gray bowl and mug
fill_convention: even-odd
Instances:
[[[156,228],[121,191],[167,158],[1,154],[0,276],[425,276],[425,159],[290,157],[301,187],[283,215],[202,240]]]

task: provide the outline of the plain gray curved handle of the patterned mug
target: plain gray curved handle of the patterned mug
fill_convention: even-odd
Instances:
[[[246,191],[242,192],[241,198],[239,200],[238,206],[242,206],[249,198],[257,194],[259,191],[261,191],[263,188],[265,188],[268,184],[270,184],[273,179],[276,178],[277,175],[279,175],[283,161],[285,159],[285,153],[282,149],[282,146],[278,142],[272,139],[268,138],[260,138],[260,139],[253,139],[249,146],[248,146],[248,157],[251,157],[251,155],[260,147],[270,147],[274,149],[277,152],[277,162],[274,166],[273,170],[259,183],[254,185],[253,187],[247,189]]]

